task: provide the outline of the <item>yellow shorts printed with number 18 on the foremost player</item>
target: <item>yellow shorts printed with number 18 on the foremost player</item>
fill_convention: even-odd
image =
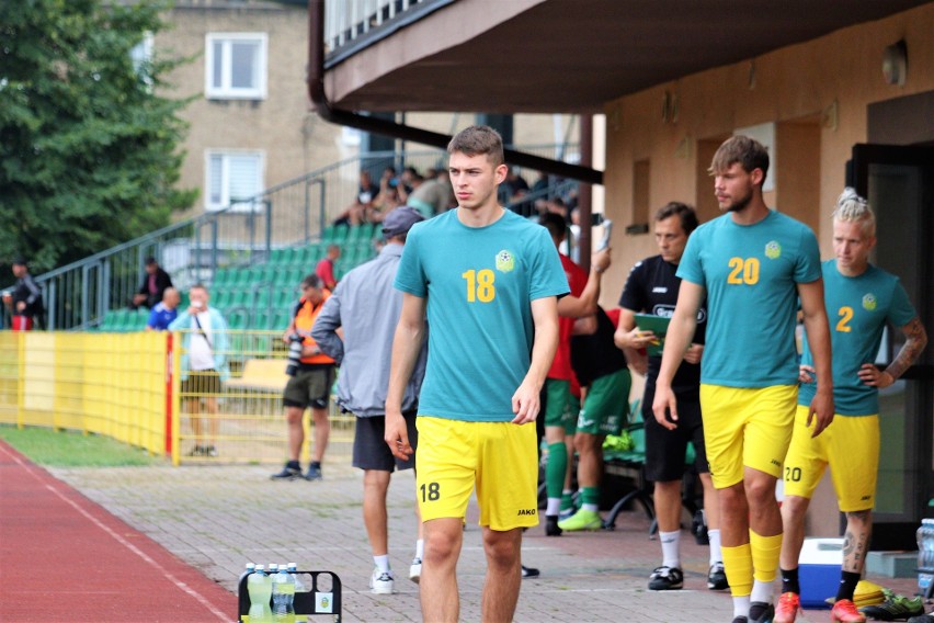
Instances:
[[[474,486],[480,525],[538,525],[535,424],[419,416],[415,485],[422,521],[464,518]]]

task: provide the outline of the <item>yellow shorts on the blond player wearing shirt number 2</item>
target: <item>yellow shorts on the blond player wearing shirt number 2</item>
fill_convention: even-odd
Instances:
[[[830,464],[840,510],[872,509],[879,472],[879,416],[839,416],[816,438],[808,408],[798,406],[795,433],[785,457],[785,495],[808,498]]]

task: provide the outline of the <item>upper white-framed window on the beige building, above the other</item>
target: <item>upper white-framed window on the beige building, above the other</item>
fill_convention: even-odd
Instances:
[[[204,92],[213,100],[266,98],[265,33],[208,33]]]

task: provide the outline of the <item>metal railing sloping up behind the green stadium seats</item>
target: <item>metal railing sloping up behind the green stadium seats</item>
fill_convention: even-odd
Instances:
[[[523,150],[547,157],[568,151],[566,145]],[[37,275],[46,328],[95,328],[110,310],[127,306],[144,281],[147,257],[156,258],[179,287],[210,283],[218,269],[261,263],[274,249],[319,240],[355,201],[361,171],[369,171],[377,182],[386,167],[423,171],[445,168],[446,160],[445,152],[435,149],[364,154]],[[2,327],[9,326],[7,314],[0,306]]]

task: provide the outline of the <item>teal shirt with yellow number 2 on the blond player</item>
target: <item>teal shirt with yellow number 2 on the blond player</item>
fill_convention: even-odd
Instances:
[[[857,373],[864,363],[876,361],[886,321],[904,327],[918,313],[899,279],[882,269],[869,264],[863,274],[846,276],[836,270],[836,260],[825,261],[821,269],[833,353],[834,411],[841,416],[878,414],[878,389],[859,381]],[[801,363],[813,365],[807,331]],[[798,404],[810,405],[816,392],[816,383],[802,383]]]

